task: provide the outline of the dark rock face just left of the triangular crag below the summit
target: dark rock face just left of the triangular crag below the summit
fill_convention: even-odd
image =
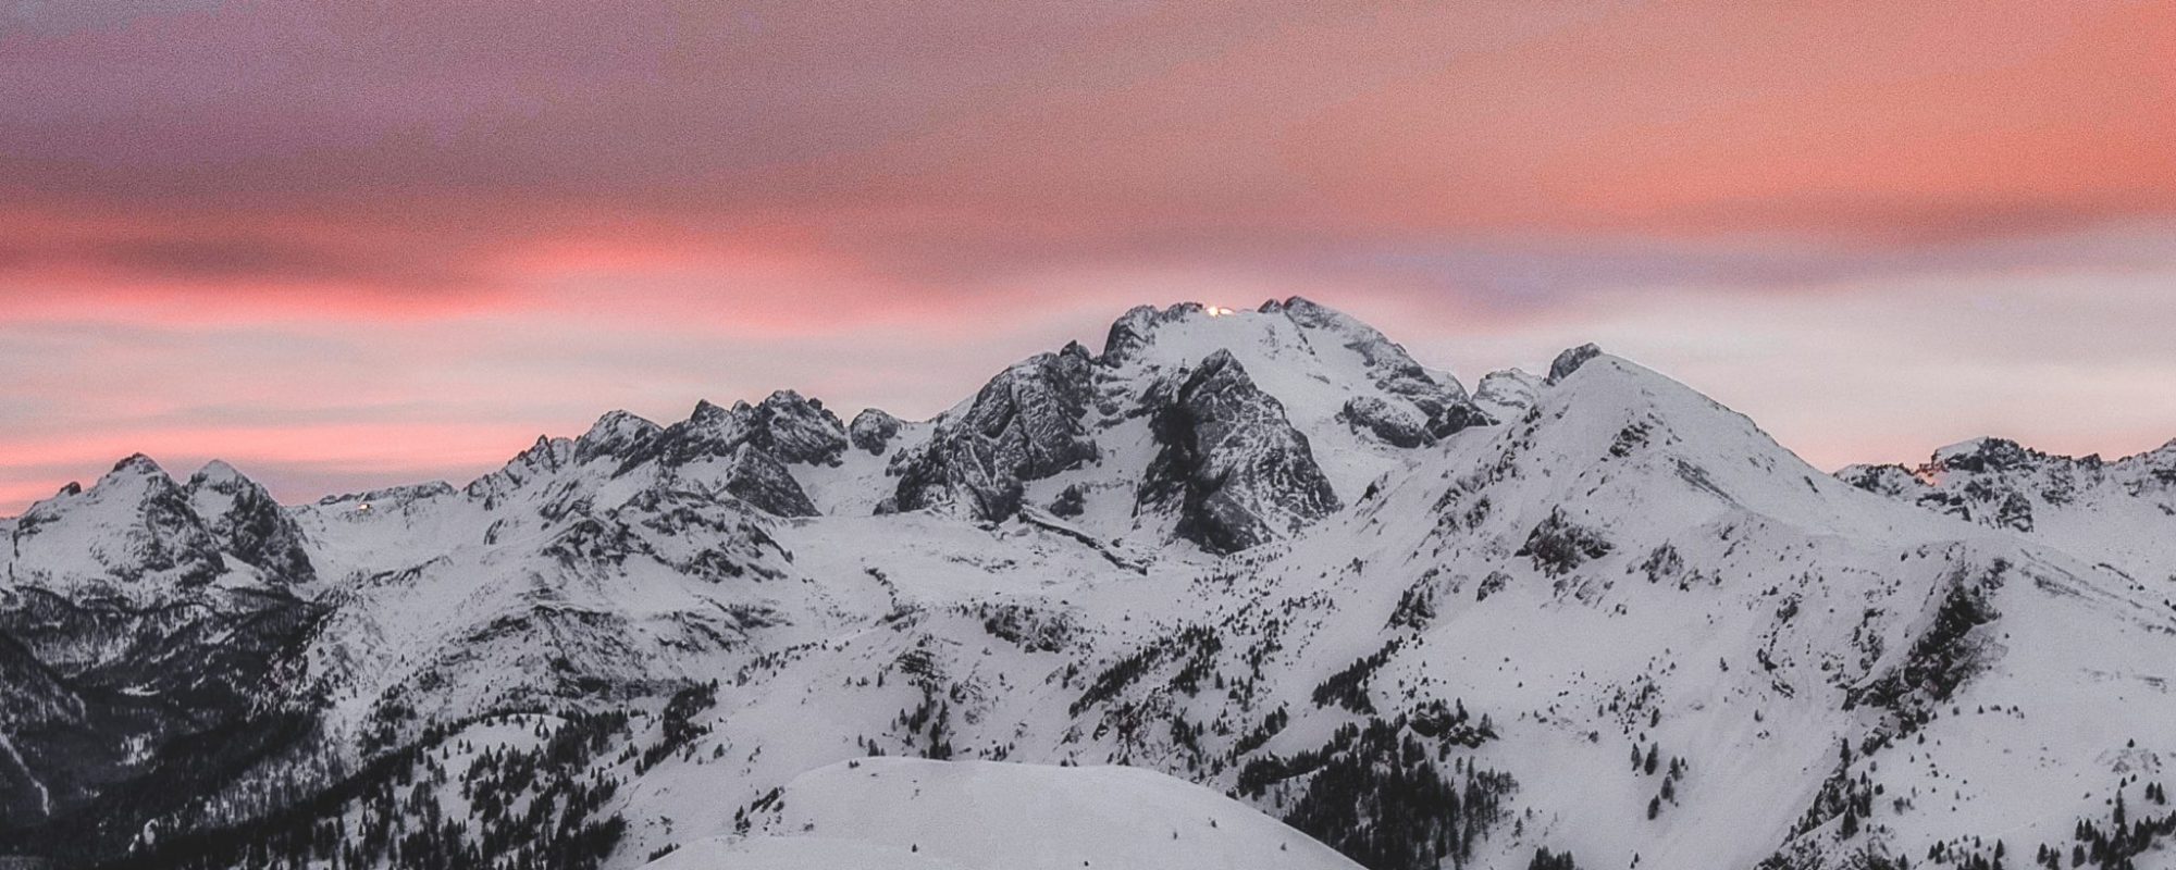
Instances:
[[[1068,344],[990,378],[957,418],[892,459],[899,487],[881,513],[962,505],[984,520],[1021,509],[1021,483],[1097,457],[1081,426],[1095,394],[1088,350]]]

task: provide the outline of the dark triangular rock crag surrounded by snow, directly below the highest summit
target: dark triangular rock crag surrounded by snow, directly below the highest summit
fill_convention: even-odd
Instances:
[[[1229,352],[1201,361],[1155,411],[1158,455],[1136,509],[1175,509],[1175,533],[1236,552],[1336,511],[1308,437]]]

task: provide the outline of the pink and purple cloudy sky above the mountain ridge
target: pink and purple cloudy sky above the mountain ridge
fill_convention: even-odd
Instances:
[[[1136,302],[1597,339],[1819,465],[2176,437],[2176,7],[33,0],[0,513],[927,415]]]

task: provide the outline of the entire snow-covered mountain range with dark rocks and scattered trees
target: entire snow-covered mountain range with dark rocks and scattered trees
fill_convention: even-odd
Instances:
[[[2176,446],[1830,476],[1299,298],[0,533],[0,855],[65,866],[2176,866]]]

